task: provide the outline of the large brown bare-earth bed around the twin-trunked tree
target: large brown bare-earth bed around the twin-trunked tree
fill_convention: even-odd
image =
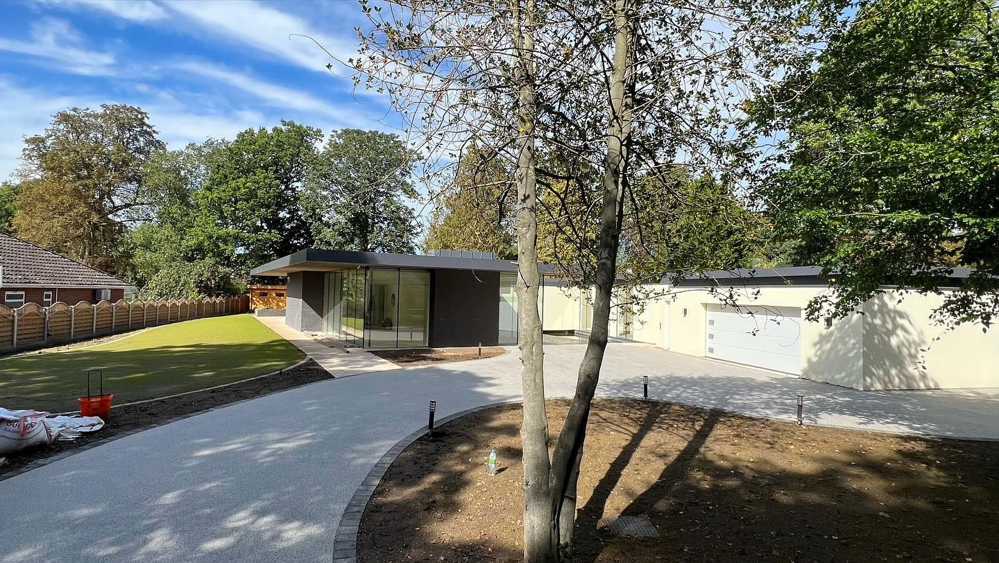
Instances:
[[[567,404],[549,402],[549,428]],[[365,510],[360,561],[519,561],[519,425],[501,406],[407,448]],[[585,448],[578,561],[999,561],[999,443],[598,399]],[[621,515],[658,537],[604,529]]]

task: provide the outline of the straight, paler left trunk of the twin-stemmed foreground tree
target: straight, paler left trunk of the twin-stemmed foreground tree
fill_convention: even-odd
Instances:
[[[544,408],[541,318],[537,311],[537,203],[534,176],[534,0],[514,2],[513,47],[516,64],[517,141],[516,244],[517,330],[520,347],[520,379],[523,387],[523,422],[520,426],[523,459],[523,560],[528,563],[557,561],[555,529],[549,488],[548,422]]]

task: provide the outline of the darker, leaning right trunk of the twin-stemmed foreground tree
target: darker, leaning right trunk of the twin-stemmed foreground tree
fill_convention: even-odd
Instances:
[[[634,75],[631,70],[636,0],[614,3],[614,57],[610,78],[610,116],[603,170],[603,198],[600,210],[600,237],[597,247],[596,291],[593,318],[586,351],[575,385],[575,395],[551,458],[552,513],[558,522],[557,548],[563,559],[572,554],[575,521],[575,489],[586,436],[589,405],[607,346],[607,324],[616,277],[617,246],[623,212],[622,192],[627,165],[627,138],[631,131]]]

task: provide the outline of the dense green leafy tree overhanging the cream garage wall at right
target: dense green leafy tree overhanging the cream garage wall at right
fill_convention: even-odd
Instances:
[[[861,2],[816,70],[764,98],[787,102],[757,106],[764,132],[788,132],[764,187],[777,224],[836,288],[809,318],[884,284],[937,291],[955,265],[976,271],[938,318],[999,313],[996,15],[983,0]]]

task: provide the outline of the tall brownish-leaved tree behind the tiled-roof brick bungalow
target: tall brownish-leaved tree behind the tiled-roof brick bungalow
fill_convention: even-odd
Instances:
[[[123,267],[118,238],[136,206],[142,167],[164,145],[140,108],[57,113],[45,133],[25,139],[18,236],[95,268]]]

